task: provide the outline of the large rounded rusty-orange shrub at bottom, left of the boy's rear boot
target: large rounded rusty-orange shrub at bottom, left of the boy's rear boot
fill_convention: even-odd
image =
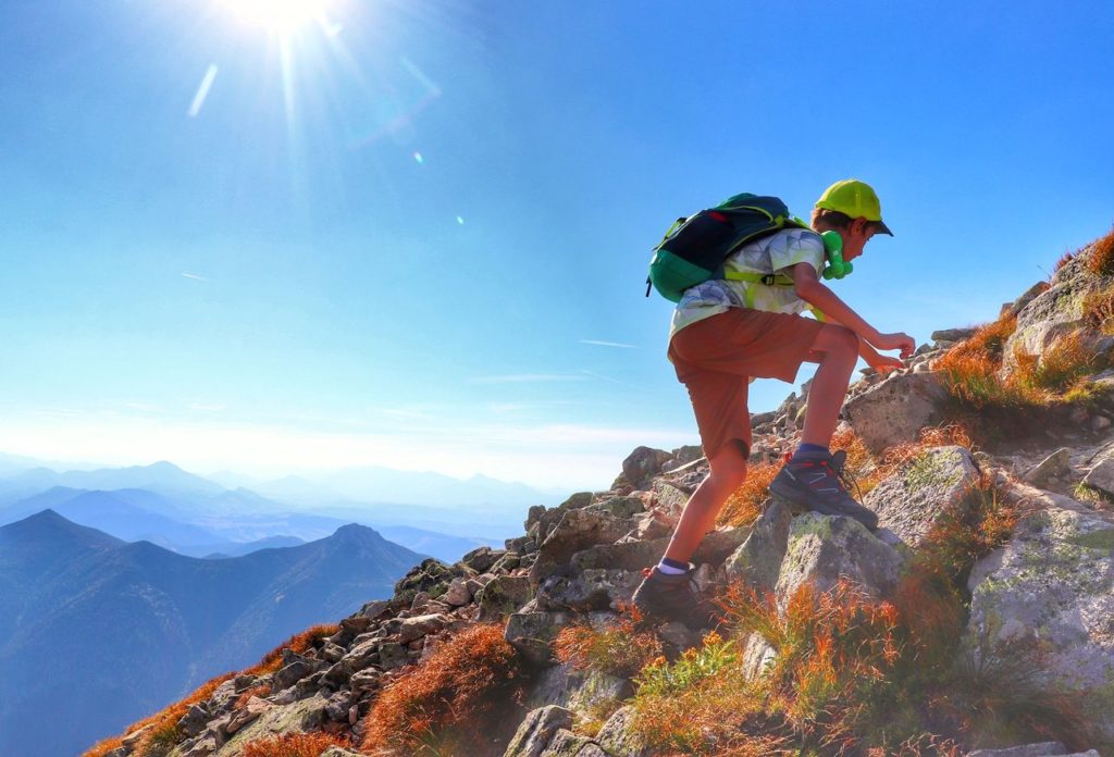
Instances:
[[[488,754],[521,699],[518,659],[496,625],[456,635],[383,690],[365,722],[377,755]],[[508,735],[509,736],[509,735]]]

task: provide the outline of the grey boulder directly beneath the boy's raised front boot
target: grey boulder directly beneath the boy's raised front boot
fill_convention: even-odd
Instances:
[[[868,596],[882,599],[897,588],[901,557],[851,518],[808,512],[789,527],[785,559],[774,587],[779,607],[804,583],[820,591],[849,579]]]

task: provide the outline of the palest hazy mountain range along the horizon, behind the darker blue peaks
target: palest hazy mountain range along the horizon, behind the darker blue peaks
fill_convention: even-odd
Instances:
[[[29,468],[33,462],[0,454],[0,523],[6,522],[6,511],[7,522],[13,519],[12,505],[20,502],[25,502],[20,514],[52,507],[49,497],[65,498],[65,493],[56,492],[39,503],[30,500],[62,488],[117,493],[116,499],[149,512],[208,529],[219,534],[218,541],[247,542],[274,535],[317,539],[332,533],[342,521],[451,533],[482,543],[519,533],[531,505],[554,505],[563,499],[486,476],[461,481],[439,473],[375,466],[341,470],[315,480],[286,476],[256,481],[228,471],[211,480],[168,462],[65,472],[41,465]],[[118,494],[125,490],[133,493]],[[140,495],[135,492],[140,491],[148,493],[145,501],[137,500]],[[291,521],[295,514],[311,520],[294,524]],[[174,549],[183,547],[179,540],[157,529],[150,538]],[[188,547],[196,539],[185,541]]]

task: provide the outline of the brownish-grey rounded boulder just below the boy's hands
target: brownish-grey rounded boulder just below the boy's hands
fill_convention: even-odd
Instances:
[[[874,453],[917,439],[917,432],[942,422],[948,399],[935,373],[892,374],[843,405],[856,435]]]

